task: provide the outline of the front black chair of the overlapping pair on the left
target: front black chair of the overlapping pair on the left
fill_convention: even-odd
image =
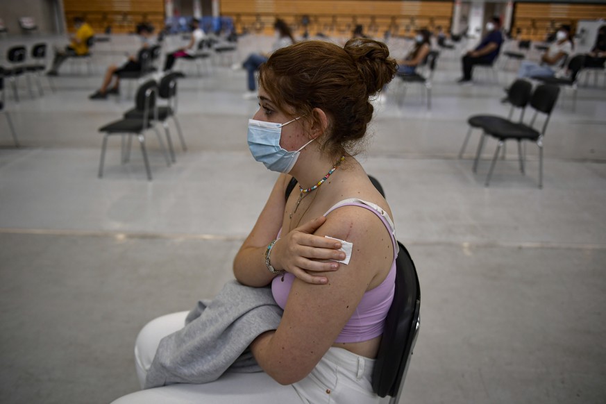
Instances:
[[[158,99],[158,83],[154,80],[147,81],[139,87],[137,90],[137,96],[135,97],[135,106],[137,110],[140,110],[140,118],[129,118],[120,119],[114,121],[111,124],[99,128],[99,132],[105,133],[103,136],[103,146],[101,146],[101,160],[99,162],[99,178],[103,177],[103,164],[105,162],[106,147],[108,143],[108,137],[111,135],[123,135],[122,137],[122,163],[128,161],[131,153],[131,141],[132,135],[137,135],[137,139],[141,145],[141,151],[143,154],[143,160],[145,162],[145,169],[147,171],[147,178],[151,181],[151,169],[149,168],[149,160],[145,150],[145,136],[144,133],[148,129],[153,129],[155,134],[158,136],[158,142],[162,149],[162,153],[165,155],[167,165],[170,167],[170,159],[166,152],[164,142],[162,142],[162,136],[157,128],[155,128],[155,121],[158,121],[158,108],[156,101]],[[151,112],[151,113],[150,113]],[[126,142],[125,150],[125,139],[124,135],[128,135],[128,142]]]

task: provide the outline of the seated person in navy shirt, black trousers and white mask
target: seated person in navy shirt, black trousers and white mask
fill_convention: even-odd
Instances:
[[[492,21],[486,23],[487,34],[482,42],[467,52],[462,60],[463,76],[457,83],[470,84],[474,65],[492,65],[497,58],[500,47],[503,44],[503,34],[500,33],[500,18],[493,17]]]

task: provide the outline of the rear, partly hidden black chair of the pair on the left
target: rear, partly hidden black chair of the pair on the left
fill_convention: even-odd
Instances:
[[[167,100],[167,105],[158,106],[158,121],[160,121],[162,123],[162,126],[165,129],[167,143],[169,145],[169,151],[171,153],[171,159],[173,160],[173,162],[175,162],[176,160],[175,160],[175,153],[174,153],[174,149],[173,149],[171,135],[170,135],[170,131],[169,131],[169,126],[168,126],[169,118],[173,119],[174,124],[177,128],[177,133],[178,133],[179,140],[181,142],[181,147],[182,147],[183,151],[187,151],[187,145],[185,144],[185,139],[183,138],[183,133],[181,132],[181,127],[179,125],[177,117],[175,116],[176,108],[177,108],[177,101],[176,101],[177,78],[179,76],[180,75],[177,72],[172,72],[172,73],[167,74],[166,76],[162,77],[162,80],[160,80],[160,86],[158,88],[158,95],[160,96],[160,98]],[[150,113],[150,115],[153,115],[153,111],[150,111],[149,113]],[[124,118],[126,118],[126,119],[128,119],[128,118],[140,119],[142,117],[142,115],[143,115],[143,112],[141,110],[137,110],[137,108],[133,108],[131,110],[124,112]],[[150,116],[149,118],[153,119],[153,116]]]

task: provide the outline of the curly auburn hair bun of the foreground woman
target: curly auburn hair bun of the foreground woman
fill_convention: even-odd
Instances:
[[[376,94],[394,78],[396,60],[389,58],[389,48],[383,42],[354,38],[347,41],[344,49],[355,62],[366,84],[367,95]]]

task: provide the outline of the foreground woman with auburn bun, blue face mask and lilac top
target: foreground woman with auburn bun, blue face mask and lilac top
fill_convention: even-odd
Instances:
[[[265,404],[268,394],[280,403],[380,402],[371,376],[394,298],[398,244],[392,210],[355,153],[373,117],[369,99],[396,67],[387,45],[367,38],[344,47],[299,42],[260,67],[260,109],[247,141],[253,158],[279,176],[235,255],[242,289],[235,300],[242,305],[251,290],[270,287],[283,312],[244,346],[262,372],[230,373],[224,384],[219,376],[196,388],[198,402]],[[198,380],[195,355],[158,359],[173,341],[191,345],[186,314],[155,319],[137,337],[137,376],[146,388]],[[174,372],[166,374],[165,364]],[[248,394],[251,380],[257,394]],[[142,402],[137,394],[119,402]]]

